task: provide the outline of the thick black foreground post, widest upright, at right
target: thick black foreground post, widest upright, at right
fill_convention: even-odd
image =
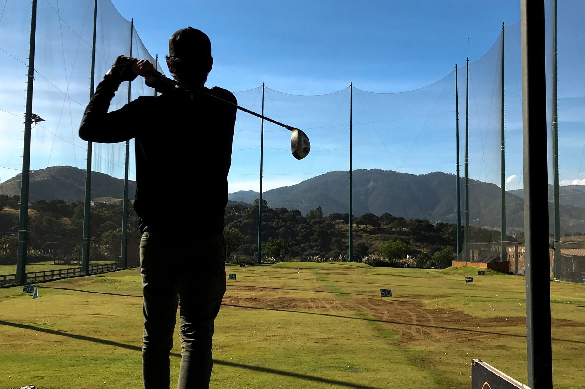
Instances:
[[[553,387],[550,328],[544,0],[521,1],[528,386]]]

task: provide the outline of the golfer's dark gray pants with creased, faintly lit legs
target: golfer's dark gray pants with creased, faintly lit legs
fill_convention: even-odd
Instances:
[[[176,236],[157,231],[142,235],[145,389],[170,388],[170,352],[179,299],[181,368],[177,389],[209,388],[214,319],[225,293],[225,258],[223,234],[199,235],[191,241],[178,241]]]

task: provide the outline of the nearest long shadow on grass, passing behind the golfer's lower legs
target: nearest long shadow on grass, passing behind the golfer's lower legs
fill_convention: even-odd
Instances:
[[[101,343],[102,345],[117,346],[119,348],[124,348],[124,349],[128,349],[128,350],[134,350],[134,351],[140,351],[140,352],[142,351],[142,347],[140,347],[140,346],[133,346],[133,345],[128,345],[126,343],[108,341],[107,339],[99,339],[99,338],[94,338],[92,336],[70,334],[68,332],[57,331],[55,329],[39,328],[39,327],[35,327],[33,325],[19,324],[19,323],[4,321],[4,320],[0,320],[0,325],[6,325],[9,327],[15,327],[15,328],[21,328],[21,329],[29,329],[30,331],[35,331],[35,332],[45,332],[46,334],[52,334],[52,335],[66,336],[67,338],[73,338],[73,339],[78,339],[81,341],[88,341],[88,342],[94,342],[94,343]],[[170,353],[170,355],[173,357],[178,357],[178,358],[181,357],[180,353]],[[343,386],[346,388],[382,389],[379,387],[360,385],[357,383],[354,384],[354,383],[348,383],[345,381],[331,380],[329,378],[309,376],[308,374],[293,373],[292,371],[271,369],[270,367],[254,366],[252,364],[235,363],[235,362],[228,362],[228,361],[217,360],[217,359],[214,359],[214,364],[222,365],[222,366],[229,366],[229,367],[238,367],[238,369],[259,371],[260,373],[277,374],[278,376],[298,378],[300,380],[313,381],[313,382],[322,383],[322,384],[338,385],[338,386]]]

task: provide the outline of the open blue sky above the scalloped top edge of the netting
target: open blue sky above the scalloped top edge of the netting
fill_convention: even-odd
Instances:
[[[373,92],[431,84],[483,55],[519,2],[489,1],[174,1],[116,0],[151,53],[194,26],[212,40],[209,85],[233,91],[266,82],[278,91],[321,94],[353,82]],[[167,18],[164,15],[168,15]],[[165,20],[166,19],[166,20]],[[245,75],[245,77],[242,77]]]

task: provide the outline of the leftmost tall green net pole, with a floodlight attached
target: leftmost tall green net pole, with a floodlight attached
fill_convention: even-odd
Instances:
[[[16,283],[26,283],[26,239],[29,225],[30,131],[33,113],[33,81],[35,81],[36,6],[33,0],[30,16],[29,73],[26,84],[25,139],[22,147],[22,176],[20,177],[20,214],[18,218],[18,247],[16,251]]]

